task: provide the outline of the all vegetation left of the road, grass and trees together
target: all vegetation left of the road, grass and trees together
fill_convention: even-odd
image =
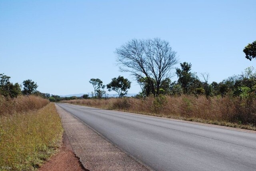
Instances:
[[[0,170],[36,170],[61,145],[60,117],[37,87],[0,74]]]

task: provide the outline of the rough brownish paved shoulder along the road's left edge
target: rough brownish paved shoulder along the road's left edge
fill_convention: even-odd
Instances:
[[[145,171],[147,167],[56,105],[72,150],[85,169],[90,171]]]

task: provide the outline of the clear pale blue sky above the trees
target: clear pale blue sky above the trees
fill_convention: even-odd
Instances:
[[[114,51],[155,37],[220,82],[256,66],[242,52],[256,40],[256,0],[0,0],[0,73],[31,79],[43,93],[88,93],[90,78],[108,84],[119,75],[138,93]]]

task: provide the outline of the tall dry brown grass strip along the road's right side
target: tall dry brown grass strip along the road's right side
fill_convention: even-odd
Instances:
[[[239,97],[159,96],[111,99],[82,99],[66,103],[129,111],[147,115],[200,121],[231,127],[256,129],[256,99]]]

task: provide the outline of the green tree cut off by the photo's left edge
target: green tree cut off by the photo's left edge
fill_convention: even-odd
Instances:
[[[17,97],[21,94],[20,85],[18,83],[12,84],[9,80],[9,76],[0,74],[0,94],[5,97]]]

